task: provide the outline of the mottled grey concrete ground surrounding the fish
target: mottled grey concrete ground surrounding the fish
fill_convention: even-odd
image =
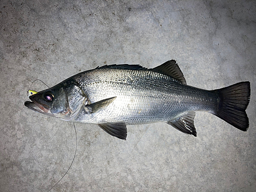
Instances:
[[[198,137],[154,123],[127,126],[123,141],[75,124],[74,163],[51,191],[255,191],[255,5],[2,0],[0,191],[48,191],[75,153],[72,123],[24,106],[29,89],[47,88],[33,80],[54,86],[97,66],[169,59],[198,88],[250,81],[248,131],[205,112],[196,113]]]

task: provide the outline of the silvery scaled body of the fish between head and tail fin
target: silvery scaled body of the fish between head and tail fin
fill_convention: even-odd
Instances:
[[[153,71],[96,69],[74,79],[91,102],[117,97],[98,113],[79,115],[78,122],[144,124],[168,121],[187,111],[211,111],[217,105],[216,93]]]

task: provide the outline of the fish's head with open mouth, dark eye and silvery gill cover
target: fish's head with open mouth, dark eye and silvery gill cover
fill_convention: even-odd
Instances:
[[[82,90],[71,84],[60,84],[29,96],[32,101],[24,104],[29,109],[62,120],[69,121],[80,112],[86,96]]]

